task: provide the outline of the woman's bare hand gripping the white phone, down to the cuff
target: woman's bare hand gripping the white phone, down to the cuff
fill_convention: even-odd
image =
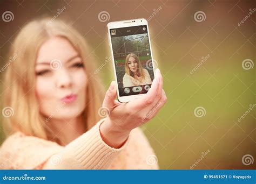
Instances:
[[[150,90],[142,98],[131,102],[120,103],[115,101],[117,91],[114,81],[103,102],[103,108],[108,116],[100,126],[100,133],[106,144],[112,147],[121,147],[129,137],[132,129],[150,121],[167,101],[163,90],[163,77],[160,70],[156,69]]]

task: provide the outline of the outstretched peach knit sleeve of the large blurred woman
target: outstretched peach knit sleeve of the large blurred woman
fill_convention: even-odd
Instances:
[[[99,132],[103,122],[104,119],[66,146],[32,136],[10,137],[1,147],[0,166],[7,169],[105,169],[129,139],[120,148],[108,146]]]

